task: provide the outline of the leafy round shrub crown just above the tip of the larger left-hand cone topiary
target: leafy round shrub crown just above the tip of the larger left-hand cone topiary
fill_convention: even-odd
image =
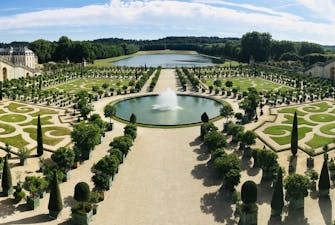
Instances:
[[[67,172],[69,169],[71,169],[74,162],[74,157],[74,151],[66,147],[60,147],[51,155],[51,159],[63,172]]]

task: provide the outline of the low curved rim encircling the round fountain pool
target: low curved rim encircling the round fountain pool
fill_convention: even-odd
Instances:
[[[224,100],[218,100],[218,99],[215,99],[213,97],[203,96],[203,95],[200,95],[200,94],[192,94],[192,93],[184,94],[184,93],[178,93],[178,92],[176,94],[177,94],[177,96],[178,95],[180,95],[180,96],[190,96],[190,97],[198,97],[198,98],[205,98],[205,99],[213,100],[213,101],[221,104],[222,106],[224,104],[229,104],[229,103],[227,103]],[[148,94],[141,94],[141,95],[136,95],[136,96],[129,96],[129,97],[124,97],[124,98],[117,99],[115,101],[111,101],[107,105],[116,105],[116,104],[118,104],[120,102],[127,101],[127,100],[130,100],[130,99],[136,99],[136,98],[142,98],[142,97],[150,97],[150,96],[158,96],[158,95],[159,95],[159,93],[148,93]],[[116,115],[114,115],[112,118],[114,120],[118,121],[118,122],[121,122],[121,123],[131,124],[129,120],[124,120],[124,119],[122,119],[122,118],[120,118],[120,117],[118,117]],[[222,118],[223,118],[223,116],[218,115],[216,117],[211,118],[208,122],[215,122],[215,121],[218,121],[218,120],[220,120]],[[139,127],[148,127],[148,128],[183,128],[183,127],[194,127],[194,126],[199,126],[199,125],[203,124],[203,122],[201,121],[201,119],[199,119],[199,120],[200,120],[199,122],[183,123],[183,124],[175,124],[175,125],[149,124],[149,123],[138,123],[138,122],[134,123],[134,125],[139,126]]]

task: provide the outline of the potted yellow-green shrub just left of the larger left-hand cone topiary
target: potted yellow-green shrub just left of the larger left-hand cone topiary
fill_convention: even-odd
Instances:
[[[29,191],[30,195],[27,197],[28,207],[35,209],[40,205],[40,193],[46,190],[48,186],[44,178],[36,176],[27,176],[23,183],[23,188]]]

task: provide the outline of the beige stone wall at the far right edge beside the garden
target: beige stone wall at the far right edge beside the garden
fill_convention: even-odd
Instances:
[[[315,63],[304,71],[306,76],[323,77],[334,81],[335,79],[335,59],[324,63]]]

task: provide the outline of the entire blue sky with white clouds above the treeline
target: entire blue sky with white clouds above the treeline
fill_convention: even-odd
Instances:
[[[166,36],[241,37],[335,45],[335,0],[2,0],[0,42]]]

